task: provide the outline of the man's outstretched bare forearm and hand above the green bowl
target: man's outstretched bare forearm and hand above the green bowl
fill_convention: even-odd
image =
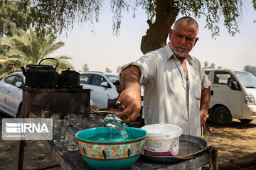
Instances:
[[[141,96],[139,86],[139,69],[134,66],[127,67],[121,73],[121,88],[124,89],[118,101],[125,107],[118,116],[124,123],[129,123],[137,119],[141,109]]]

